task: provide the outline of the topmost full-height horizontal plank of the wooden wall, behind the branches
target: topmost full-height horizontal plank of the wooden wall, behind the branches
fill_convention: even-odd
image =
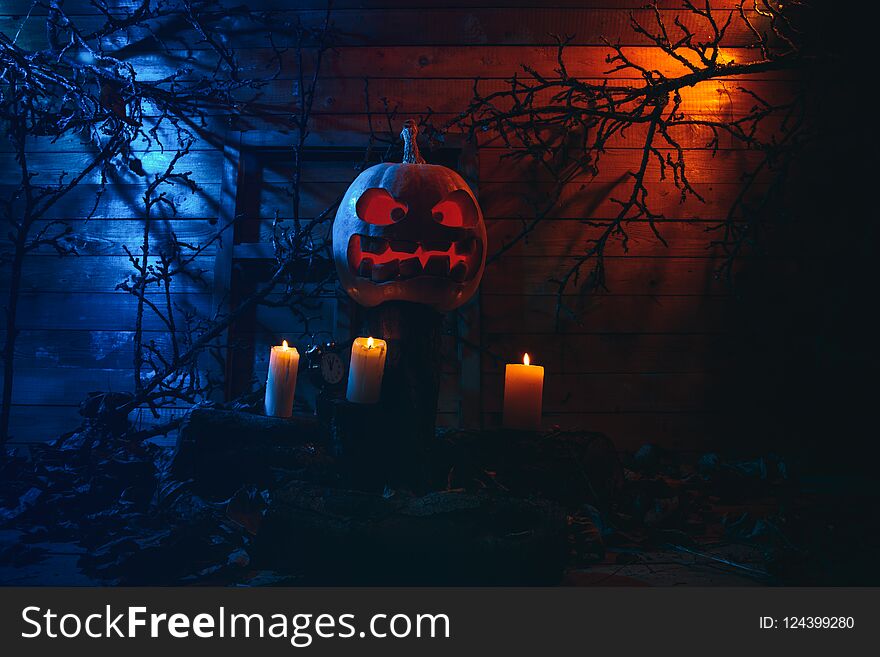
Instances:
[[[712,27],[706,19],[681,9],[661,9],[660,15],[670,30],[674,21],[680,20],[695,34],[696,41],[711,38]],[[569,34],[575,45],[602,44],[603,38],[622,45],[645,45],[650,41],[634,31],[630,25],[630,13],[643,25],[655,28],[652,11],[639,8],[630,11],[605,8],[564,8],[553,11],[545,8],[469,8],[450,11],[433,8],[398,8],[393,10],[342,9],[331,15],[331,24],[343,36],[346,45],[523,45],[555,44],[553,35]],[[725,21],[733,10],[720,12],[719,20]],[[238,47],[268,47],[268,31],[254,21],[235,12],[219,11],[214,15],[204,12],[204,18],[223,34],[235,35]],[[760,13],[747,9],[749,20],[760,30],[766,30],[769,21]],[[291,11],[279,14],[273,21],[272,41],[279,48],[296,46],[295,27],[300,22],[307,29],[320,28],[325,11]],[[105,25],[101,16],[80,16],[75,24],[82,33],[96,31]],[[154,26],[169,22],[154,22]],[[166,27],[158,33],[165,34],[171,42],[188,38],[194,50],[209,50],[210,45],[199,39],[194,30],[183,25],[172,31]],[[0,30],[17,34],[17,45],[25,49],[48,47],[45,20],[37,17],[0,17]],[[772,34],[772,33],[771,33]],[[106,50],[120,48],[157,48],[155,32],[146,27],[132,26],[117,30],[96,41]],[[755,43],[755,36],[746,23],[735,15],[722,41],[725,47],[748,47]]]

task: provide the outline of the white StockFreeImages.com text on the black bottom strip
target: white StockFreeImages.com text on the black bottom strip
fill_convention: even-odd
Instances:
[[[296,648],[306,648],[315,639],[377,639],[408,637],[448,639],[451,634],[446,614],[374,614],[366,628],[358,630],[354,614],[246,614],[230,613],[220,607],[215,613],[151,613],[146,607],[126,607],[85,616],[59,613],[41,607],[21,612],[25,629],[22,638],[36,639],[173,639],[270,638],[286,639]]]

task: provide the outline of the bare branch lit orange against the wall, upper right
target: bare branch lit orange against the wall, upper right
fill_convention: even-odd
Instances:
[[[643,135],[638,139],[641,156],[638,165],[627,172],[619,186],[623,194],[610,200],[617,211],[608,219],[584,218],[583,222],[599,229],[589,239],[570,267],[552,282],[556,285],[556,316],[575,317],[566,302],[573,289],[591,292],[606,289],[606,250],[609,243],[619,240],[628,247],[629,224],[647,222],[654,236],[666,245],[662,225],[664,216],[654,209],[649,196],[649,169],[659,166],[659,180],[672,179],[681,201],[703,197],[689,179],[688,151],[682,145],[683,130],[700,130],[706,134],[704,148],[713,156],[722,135],[739,147],[761,154],[759,162],[742,177],[739,194],[726,216],[713,227],[718,237],[711,241],[724,254],[719,275],[731,278],[738,257],[760,239],[768,206],[779,200],[790,165],[809,140],[806,100],[794,94],[783,103],[772,103],[753,91],[738,88],[753,102],[744,115],[731,120],[691,116],[682,109],[682,91],[709,80],[735,80],[737,76],[802,68],[813,59],[801,44],[797,23],[808,10],[802,2],[783,3],[771,0],[742,0],[736,9],[713,10],[709,2],[698,6],[684,0],[682,11],[700,25],[698,31],[689,27],[694,21],[676,16],[669,20],[657,9],[653,20],[643,24],[630,13],[632,30],[650,45],[659,49],[669,68],[681,72],[672,75],[658,66],[648,66],[619,44],[605,41],[611,53],[606,61],[606,76],[631,74],[640,83],[614,84],[606,77],[601,81],[580,79],[571,75],[566,66],[566,47],[571,37],[558,37],[557,66],[554,76],[545,76],[534,68],[523,66],[524,75],[515,75],[501,91],[483,94],[480,81],[473,87],[471,104],[440,131],[464,130],[472,139],[494,130],[505,146],[507,157],[536,164],[551,180],[546,197],[532,203],[534,213],[523,217],[517,235],[501,245],[493,258],[498,258],[528,236],[557,207],[562,194],[576,179],[595,178],[603,166],[603,156],[615,140],[631,138],[628,133]],[[753,36],[750,48],[757,56],[749,61],[732,61],[724,55],[725,35],[731,25],[742,22]],[[757,180],[770,171],[770,183],[764,198],[753,202]],[[590,185],[585,194],[592,193]],[[581,285],[583,283],[583,285]]]

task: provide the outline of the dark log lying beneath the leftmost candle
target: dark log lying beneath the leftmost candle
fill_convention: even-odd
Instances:
[[[268,487],[276,473],[327,482],[334,476],[326,433],[311,416],[289,419],[195,409],[180,428],[165,472],[192,490],[225,499],[244,485]]]

